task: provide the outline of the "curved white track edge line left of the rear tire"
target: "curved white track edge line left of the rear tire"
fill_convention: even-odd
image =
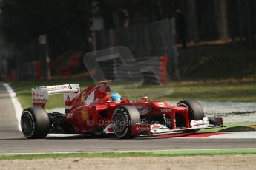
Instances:
[[[4,83],[4,87],[5,87],[5,89],[7,89],[7,92],[10,95],[10,99],[13,102],[14,110],[16,113],[15,115],[18,120],[17,124],[18,124],[19,131],[22,131],[22,127],[21,127],[21,123],[20,123],[22,112],[23,112],[22,105],[21,105],[21,103],[19,103],[18,99],[16,98],[16,93],[13,91],[13,89],[10,87],[10,85]]]

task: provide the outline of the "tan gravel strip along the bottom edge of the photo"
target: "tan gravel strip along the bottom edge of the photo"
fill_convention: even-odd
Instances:
[[[56,158],[38,160],[0,160],[1,170],[9,169],[256,169],[256,154],[182,156]]]

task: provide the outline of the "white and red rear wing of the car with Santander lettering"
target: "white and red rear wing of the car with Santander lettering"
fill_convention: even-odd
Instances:
[[[63,84],[54,86],[38,86],[32,88],[32,103],[33,106],[45,107],[49,95],[63,94],[65,111],[71,109],[72,100],[80,92],[79,84]]]

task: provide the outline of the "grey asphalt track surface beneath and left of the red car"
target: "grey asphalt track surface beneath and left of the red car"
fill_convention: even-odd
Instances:
[[[52,153],[52,152],[104,152],[132,150],[176,149],[240,149],[255,148],[256,139],[211,138],[135,138],[121,140],[115,137],[54,136],[27,140],[17,126],[15,109],[10,95],[0,83],[0,154],[3,153]]]

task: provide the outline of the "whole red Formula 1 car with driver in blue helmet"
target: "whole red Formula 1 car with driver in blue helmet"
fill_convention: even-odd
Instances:
[[[24,109],[21,123],[27,138],[43,138],[49,133],[102,135],[120,138],[154,136],[173,132],[223,126],[222,118],[204,117],[200,103],[184,100],[177,106],[165,101],[111,101],[108,81],[88,86],[80,92],[79,84],[39,86],[32,89],[33,107]],[[64,95],[65,113],[47,113],[48,95]]]

